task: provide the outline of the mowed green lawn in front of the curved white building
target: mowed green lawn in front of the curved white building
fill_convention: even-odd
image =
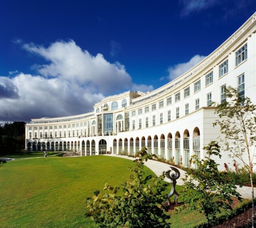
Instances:
[[[0,168],[0,227],[97,227],[84,217],[87,197],[106,182],[120,186],[133,165],[107,156],[9,161]]]

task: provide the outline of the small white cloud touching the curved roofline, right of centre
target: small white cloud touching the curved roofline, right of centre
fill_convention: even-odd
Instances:
[[[180,75],[182,75],[183,73],[185,73],[186,71],[191,69],[193,66],[198,64],[198,62],[202,61],[205,57],[206,56],[195,55],[188,62],[179,63],[179,64],[169,67],[169,69],[168,69],[169,79],[173,80],[173,79],[179,77]]]

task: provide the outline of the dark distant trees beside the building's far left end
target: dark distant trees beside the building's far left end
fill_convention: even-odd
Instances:
[[[25,148],[25,122],[0,124],[0,154]]]

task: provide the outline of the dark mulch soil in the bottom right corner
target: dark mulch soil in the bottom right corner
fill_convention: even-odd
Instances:
[[[254,217],[255,217],[255,215],[256,215],[256,206],[254,207]],[[237,215],[236,217],[234,217],[233,219],[231,219],[229,221],[225,221],[224,223],[214,226],[214,228],[252,227],[251,221],[252,221],[252,208],[250,208],[246,212],[241,213],[240,215]],[[254,224],[254,226],[255,226],[255,224]]]

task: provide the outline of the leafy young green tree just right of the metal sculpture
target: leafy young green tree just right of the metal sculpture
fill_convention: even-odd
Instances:
[[[220,208],[232,209],[232,195],[240,199],[235,183],[226,181],[226,173],[219,172],[218,164],[211,159],[211,155],[221,158],[219,148],[220,146],[213,141],[203,148],[207,154],[205,159],[199,160],[196,155],[192,156],[192,162],[197,164],[198,169],[187,171],[183,179],[184,190],[181,192],[184,206],[178,208],[197,210],[205,215],[208,226],[214,223]]]

